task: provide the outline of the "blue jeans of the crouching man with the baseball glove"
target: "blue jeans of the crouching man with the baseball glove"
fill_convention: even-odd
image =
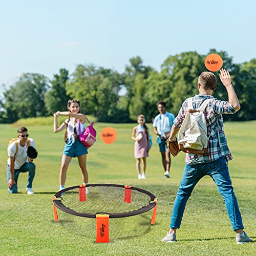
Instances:
[[[26,173],[28,172],[28,183],[27,187],[32,188],[32,182],[35,177],[35,164],[34,163],[25,163],[20,167],[19,169],[14,169],[14,180],[16,184],[18,185],[18,176],[20,173]],[[10,173],[10,166],[7,164],[6,166],[6,174],[7,174],[7,182],[11,178],[11,173]],[[11,189],[8,188],[10,194],[18,193],[18,187],[17,185],[13,185]]]

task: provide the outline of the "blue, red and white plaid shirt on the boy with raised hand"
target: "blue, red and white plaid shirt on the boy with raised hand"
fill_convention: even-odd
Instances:
[[[222,156],[226,157],[226,161],[230,161],[233,158],[227,146],[222,114],[234,114],[237,111],[228,101],[218,100],[213,96],[203,94],[195,95],[193,97],[193,108],[197,110],[202,102],[206,99],[212,99],[204,111],[207,125],[207,136],[210,136],[208,140],[207,151],[202,155],[186,153],[187,164],[212,162]],[[188,104],[186,99],[182,104],[178,116],[174,120],[174,125],[176,127],[181,127],[181,124],[187,113]]]

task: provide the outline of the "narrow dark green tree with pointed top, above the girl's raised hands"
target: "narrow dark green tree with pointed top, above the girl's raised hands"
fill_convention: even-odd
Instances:
[[[51,89],[45,95],[45,104],[48,114],[56,111],[66,111],[67,102],[70,99],[66,92],[66,82],[69,79],[69,71],[60,69],[59,74],[55,74],[51,81]]]

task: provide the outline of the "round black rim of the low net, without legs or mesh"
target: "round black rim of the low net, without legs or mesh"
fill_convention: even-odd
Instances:
[[[125,190],[125,186],[124,185],[118,185],[118,184],[88,184],[86,185],[86,187],[89,189],[90,187],[97,187],[97,186],[100,186],[100,187],[119,187],[119,188],[123,188],[123,191]],[[155,206],[156,206],[156,202],[154,201],[156,199],[156,197],[150,193],[149,191],[147,190],[144,190],[144,189],[141,189],[141,188],[138,188],[138,187],[133,187],[131,186],[130,189],[133,191],[138,191],[139,193],[143,193],[145,195],[147,195],[148,197],[150,197],[150,200],[148,201],[148,204],[145,205],[145,206],[142,206],[141,208],[138,208],[136,210],[132,210],[132,211],[128,211],[128,212],[119,212],[119,213],[113,213],[113,212],[103,212],[103,211],[100,211],[100,212],[96,212],[95,214],[91,214],[91,213],[88,213],[88,212],[78,212],[78,211],[75,211],[69,207],[67,207],[65,204],[62,203],[62,200],[64,198],[64,196],[61,196],[63,193],[66,193],[68,192],[69,190],[73,190],[73,189],[76,189],[76,188],[80,188],[80,186],[72,186],[72,187],[67,187],[65,189],[62,189],[60,191],[58,191],[56,194],[55,194],[55,197],[54,200],[53,200],[53,203],[55,204],[55,206],[57,208],[59,208],[60,210],[62,211],[65,211],[67,212],[67,214],[71,214],[71,215],[75,215],[75,216],[80,216],[80,217],[86,217],[86,218],[96,218],[96,215],[97,214],[107,214],[109,215],[109,218],[124,218],[124,217],[130,217],[130,216],[135,216],[135,215],[139,215],[139,214],[142,214],[143,212],[146,212],[148,210],[151,210],[153,209]],[[132,192],[133,193],[133,192]],[[123,195],[124,195],[124,192],[123,192]],[[132,196],[133,198],[133,196]]]

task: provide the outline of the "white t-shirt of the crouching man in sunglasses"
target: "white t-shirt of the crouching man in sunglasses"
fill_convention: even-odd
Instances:
[[[26,142],[26,144],[24,146],[20,146],[19,139],[17,141],[18,141],[18,152],[16,155],[15,155],[16,141],[13,141],[7,148],[8,156],[9,156],[7,163],[9,165],[11,163],[10,157],[14,157],[14,155],[15,155],[14,169],[19,169],[20,167],[22,167],[22,165],[24,163],[28,162],[28,155],[27,155],[27,147],[28,147],[27,144],[28,143]],[[29,138],[29,143],[30,143],[30,146],[35,147],[35,142],[33,139]]]

